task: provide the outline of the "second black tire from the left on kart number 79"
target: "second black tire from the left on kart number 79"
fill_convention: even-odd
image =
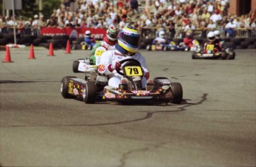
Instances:
[[[94,82],[86,82],[82,89],[82,100],[85,103],[95,103],[96,85]]]

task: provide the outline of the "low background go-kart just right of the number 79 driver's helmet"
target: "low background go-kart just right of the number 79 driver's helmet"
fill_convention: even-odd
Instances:
[[[152,45],[149,44],[145,49],[146,50],[163,50],[163,51],[180,50],[180,48],[176,45],[174,41],[171,41],[166,44],[152,44]]]

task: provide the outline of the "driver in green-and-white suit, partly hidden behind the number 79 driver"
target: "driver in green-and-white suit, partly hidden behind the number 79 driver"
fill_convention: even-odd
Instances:
[[[107,34],[103,38],[103,41],[97,42],[92,49],[91,56],[90,56],[90,62],[93,62],[93,65],[96,64],[96,58],[95,58],[95,51],[98,47],[105,47],[106,50],[112,50],[114,49],[114,46],[117,42],[117,35],[118,35],[118,30],[116,27],[111,25],[108,27]]]

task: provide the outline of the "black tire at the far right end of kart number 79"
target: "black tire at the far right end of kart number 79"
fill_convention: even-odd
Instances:
[[[180,103],[183,100],[183,86],[180,83],[171,83],[172,100],[171,103]]]

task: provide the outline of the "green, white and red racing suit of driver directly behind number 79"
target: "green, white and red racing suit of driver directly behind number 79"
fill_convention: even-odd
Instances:
[[[106,50],[113,50],[114,44],[116,44],[116,41],[109,41],[107,36],[103,38],[103,41],[97,42],[92,49],[91,56],[90,56],[90,62],[93,62],[93,65],[96,64],[96,58],[95,58],[95,51],[98,47],[105,47]]]

